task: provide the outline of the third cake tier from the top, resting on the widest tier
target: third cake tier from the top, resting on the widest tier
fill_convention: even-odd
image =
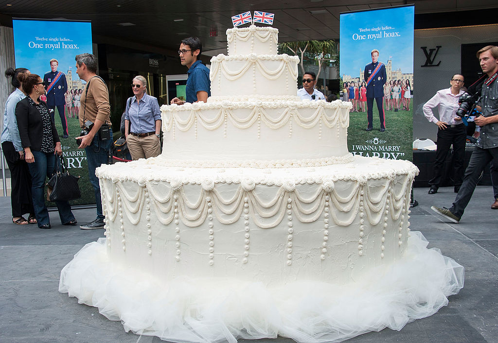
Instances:
[[[172,166],[320,166],[351,161],[351,103],[248,101],[164,105],[161,156]]]

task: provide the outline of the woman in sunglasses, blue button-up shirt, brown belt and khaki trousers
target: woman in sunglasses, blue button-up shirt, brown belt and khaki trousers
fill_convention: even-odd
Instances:
[[[148,95],[147,80],[136,76],[131,84],[134,96],[126,101],[124,136],[131,159],[155,157],[161,153],[161,111],[157,99]]]

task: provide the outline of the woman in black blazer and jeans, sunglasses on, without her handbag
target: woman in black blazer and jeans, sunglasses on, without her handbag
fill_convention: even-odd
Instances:
[[[54,171],[55,154],[62,155],[61,142],[47,104],[38,99],[40,95],[45,94],[44,82],[36,74],[22,74],[18,78],[27,97],[17,103],[15,116],[32,179],[34,212],[38,227],[50,229],[50,219],[44,199],[44,184],[45,178],[51,177]],[[61,223],[76,225],[69,203],[67,201],[55,203],[59,209]]]

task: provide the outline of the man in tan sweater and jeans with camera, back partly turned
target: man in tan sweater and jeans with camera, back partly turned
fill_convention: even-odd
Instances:
[[[95,191],[97,218],[80,226],[81,229],[104,229],[102,198],[99,179],[95,169],[106,164],[113,143],[111,129],[111,106],[109,90],[101,77],[97,76],[97,59],[94,55],[84,53],[76,55],[76,73],[87,82],[80,99],[80,136],[76,142],[80,149],[85,149],[88,161],[88,174]]]

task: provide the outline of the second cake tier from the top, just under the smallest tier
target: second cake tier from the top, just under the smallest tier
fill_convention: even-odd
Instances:
[[[218,55],[211,58],[212,96],[296,95],[299,57]]]

